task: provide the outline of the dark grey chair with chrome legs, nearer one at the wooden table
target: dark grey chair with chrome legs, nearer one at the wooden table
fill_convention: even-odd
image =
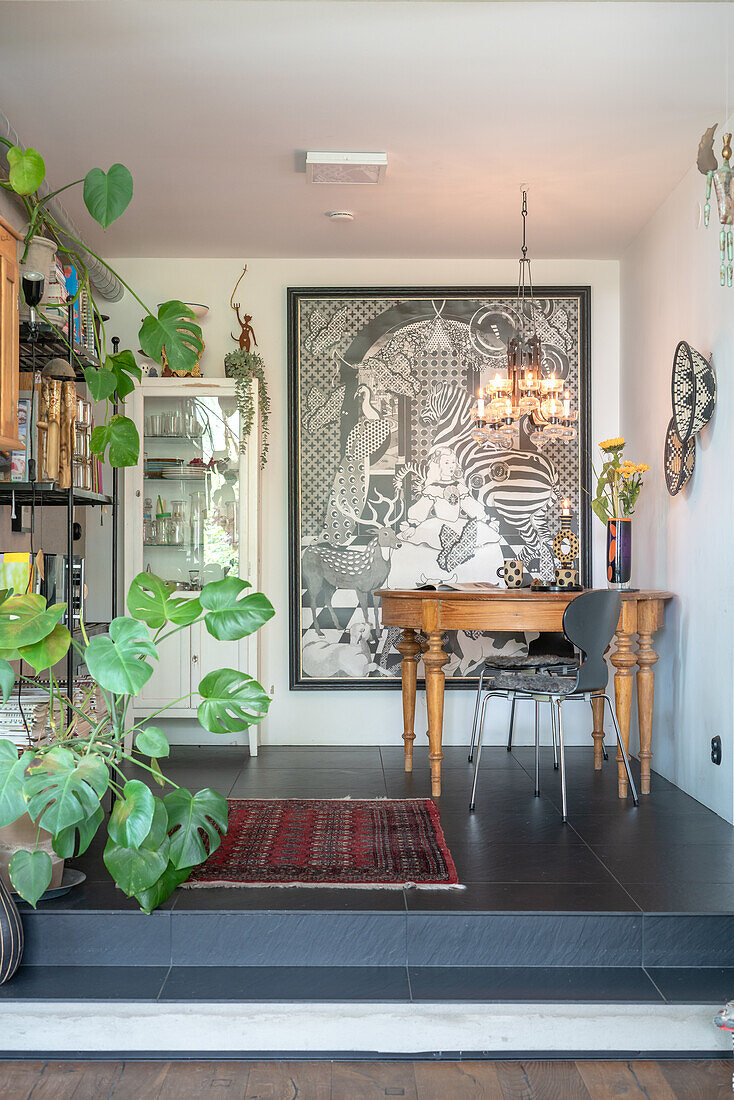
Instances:
[[[561,802],[563,821],[567,821],[566,800],[566,757],[563,754],[563,721],[562,703],[567,700],[582,698],[591,702],[596,696],[606,701],[614,729],[617,745],[622,752],[624,767],[627,772],[627,781],[635,805],[638,805],[637,790],[629,770],[629,760],[620,735],[620,727],[616,714],[612,706],[612,701],[606,694],[606,683],[609,680],[609,669],[604,660],[609,645],[614,636],[622,597],[618,592],[606,592],[603,590],[595,592],[584,592],[577,596],[563,613],[563,635],[571,645],[581,651],[581,661],[576,670],[576,675],[560,676],[550,675],[547,672],[521,672],[500,673],[490,680],[489,688],[484,691],[482,700],[478,740],[476,740],[476,762],[474,765],[474,780],[471,790],[471,802],[469,809],[473,810],[476,799],[476,780],[479,778],[479,765],[482,754],[482,730],[484,727],[484,715],[486,704],[493,696],[501,698],[532,698],[536,704],[535,722],[535,794],[540,794],[540,770],[539,770],[539,724],[538,704],[547,702],[550,704],[551,718],[556,717],[558,730],[558,747],[561,772]],[[554,706],[555,704],[555,706]],[[556,713],[555,713],[556,712]],[[555,723],[556,724],[556,723]]]

